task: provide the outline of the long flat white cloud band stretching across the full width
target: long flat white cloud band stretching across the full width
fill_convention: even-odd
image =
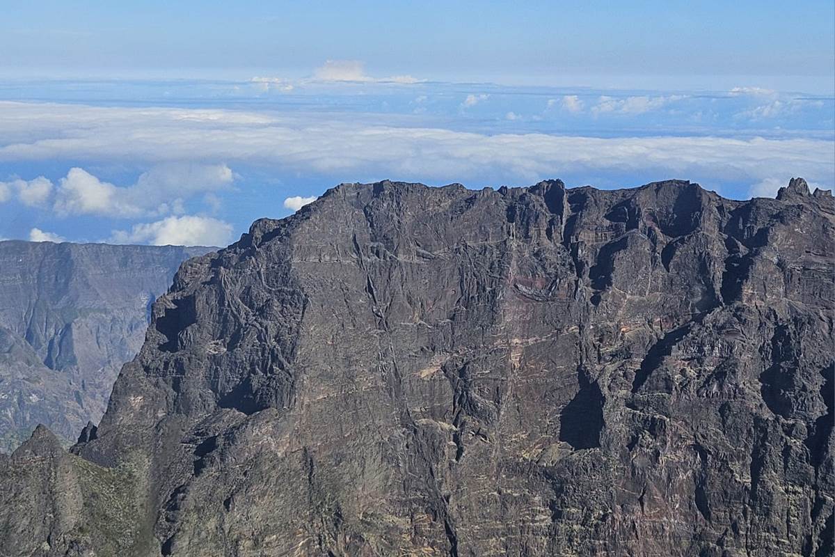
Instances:
[[[38,123],[37,130],[31,130],[32,122]],[[164,166],[199,154],[200,160],[224,160],[233,167],[265,165],[337,181],[377,175],[519,184],[549,176],[611,172],[635,180],[678,176],[710,187],[714,180],[757,184],[790,172],[828,188],[835,175],[830,139],[483,134],[380,125],[357,114],[320,117],[0,102],[0,137],[18,138],[0,145],[0,165],[104,160]],[[227,176],[219,181],[231,174],[219,172]],[[172,195],[168,192],[169,200]]]

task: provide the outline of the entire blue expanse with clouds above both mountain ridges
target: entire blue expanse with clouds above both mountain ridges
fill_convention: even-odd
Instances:
[[[343,181],[835,183],[801,3],[5,3],[0,237],[223,244]]]

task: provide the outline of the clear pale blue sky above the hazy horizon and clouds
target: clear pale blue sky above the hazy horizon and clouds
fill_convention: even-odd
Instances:
[[[826,93],[835,63],[832,2],[4,4],[0,65],[41,77],[301,77],[326,59],[357,59],[374,73],[447,81],[635,86],[651,76],[660,87],[699,76],[726,87],[723,76],[760,76]]]

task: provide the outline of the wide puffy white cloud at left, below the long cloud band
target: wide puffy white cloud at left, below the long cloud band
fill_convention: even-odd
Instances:
[[[184,199],[221,190],[233,180],[226,165],[164,163],[139,175],[134,185],[119,187],[73,168],[58,181],[54,210],[62,216],[182,213]]]

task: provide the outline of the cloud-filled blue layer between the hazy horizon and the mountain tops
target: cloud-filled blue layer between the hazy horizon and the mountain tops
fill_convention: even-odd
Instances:
[[[477,188],[675,177],[731,197],[773,195],[794,175],[835,182],[831,99],[753,87],[438,84],[372,78],[350,61],[308,79],[108,89],[127,91],[121,107],[82,104],[95,101],[67,87],[72,104],[0,101],[0,235],[225,245],[330,185],[383,178]],[[33,228],[42,223],[51,231]]]

